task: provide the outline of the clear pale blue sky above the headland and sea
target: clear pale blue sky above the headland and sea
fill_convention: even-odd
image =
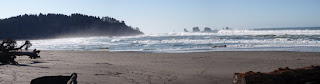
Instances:
[[[320,26],[320,0],[1,0],[0,18],[21,14],[110,16],[145,33]]]

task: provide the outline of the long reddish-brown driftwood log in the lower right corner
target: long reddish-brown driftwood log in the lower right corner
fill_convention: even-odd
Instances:
[[[235,73],[233,84],[319,84],[320,66],[290,69],[279,68],[273,72]]]

